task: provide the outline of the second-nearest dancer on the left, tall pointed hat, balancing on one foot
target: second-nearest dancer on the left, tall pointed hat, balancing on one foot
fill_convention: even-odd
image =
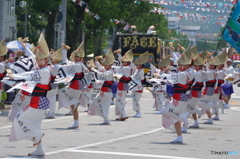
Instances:
[[[66,81],[70,81],[69,85],[59,91],[59,108],[70,106],[73,112],[74,123],[72,126],[68,127],[68,129],[79,128],[79,99],[81,98],[84,86],[87,84],[86,80],[84,80],[84,76],[86,76],[86,74],[89,72],[85,65],[82,63],[84,56],[84,42],[82,42],[78,46],[77,50],[72,54],[72,58],[75,62],[67,61],[67,65],[63,65],[60,69],[60,71],[69,71],[69,75],[65,78]]]

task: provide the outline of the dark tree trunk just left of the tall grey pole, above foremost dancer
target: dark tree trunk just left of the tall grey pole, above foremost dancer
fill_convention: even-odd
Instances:
[[[57,11],[53,10],[51,11],[52,14],[48,14],[48,23],[46,26],[46,41],[48,44],[49,49],[54,48],[54,25],[55,25],[55,19],[57,17]]]

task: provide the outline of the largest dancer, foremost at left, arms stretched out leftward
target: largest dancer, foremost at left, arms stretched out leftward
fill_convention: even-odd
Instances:
[[[25,83],[19,84],[20,87],[16,85],[15,88],[21,88],[25,91],[32,90],[32,92],[29,92],[31,93],[29,105],[14,118],[9,141],[31,140],[33,141],[33,146],[37,146],[37,149],[28,155],[44,156],[45,153],[41,143],[44,132],[41,130],[41,124],[45,110],[49,108],[49,101],[46,95],[51,88],[48,85],[50,68],[47,66],[49,49],[43,34],[40,35],[35,51],[39,70],[9,74],[10,79],[26,80]]]

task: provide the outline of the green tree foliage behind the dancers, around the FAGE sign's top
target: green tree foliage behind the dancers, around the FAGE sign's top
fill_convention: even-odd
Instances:
[[[24,35],[25,10],[19,7],[17,0],[18,36]],[[39,33],[46,30],[46,40],[49,48],[53,48],[54,24],[59,11],[61,0],[26,0],[27,11],[31,15],[28,18],[28,36],[36,42]],[[89,13],[85,12],[86,5],[79,6],[67,1],[66,44],[71,47],[69,52],[77,48],[85,33],[86,54],[95,52],[102,54],[101,50],[109,44],[106,35],[112,28],[123,31],[126,23],[116,24],[116,20],[128,22],[137,26],[137,31],[145,33],[150,25],[157,24],[157,34],[160,38],[167,38],[167,21],[164,15],[150,13],[159,5],[150,4],[142,0],[84,0],[88,5]],[[41,16],[41,18],[39,18]],[[112,34],[111,32],[109,32]]]

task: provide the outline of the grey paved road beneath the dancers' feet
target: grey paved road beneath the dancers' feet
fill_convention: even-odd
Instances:
[[[94,98],[94,96],[93,96]],[[202,124],[207,120],[204,115],[199,129],[189,129],[183,134],[183,144],[171,144],[169,141],[176,134],[162,127],[162,117],[152,108],[153,99],[147,90],[141,98],[142,117],[133,118],[130,96],[127,97],[127,121],[116,121],[114,106],[110,108],[111,125],[99,125],[102,119],[88,116],[86,108],[79,108],[80,128],[68,130],[73,119],[65,116],[68,109],[56,113],[56,119],[44,119],[42,129],[45,131],[43,144],[45,158],[72,159],[137,159],[137,158],[240,158],[239,155],[225,155],[226,151],[240,153],[240,88],[235,88],[231,108],[226,114],[220,114],[220,121],[213,125]],[[0,114],[0,158],[29,158],[26,156],[35,147],[30,141],[9,143],[11,122],[6,121],[8,110]],[[193,120],[190,119],[189,124]],[[212,153],[223,153],[212,154]]]

